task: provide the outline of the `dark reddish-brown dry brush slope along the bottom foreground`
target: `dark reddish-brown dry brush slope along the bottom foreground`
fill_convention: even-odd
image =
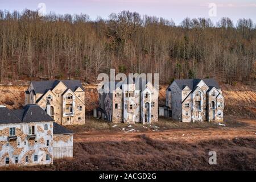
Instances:
[[[196,143],[154,140],[138,135],[135,141],[79,142],[74,160],[56,160],[54,166],[24,170],[255,170],[256,139],[201,140]],[[208,152],[217,152],[209,165]],[[16,169],[16,168],[5,168]]]

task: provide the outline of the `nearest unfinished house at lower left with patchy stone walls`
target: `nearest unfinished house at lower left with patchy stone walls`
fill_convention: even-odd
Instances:
[[[73,134],[38,105],[0,106],[0,166],[53,164],[73,157]]]

